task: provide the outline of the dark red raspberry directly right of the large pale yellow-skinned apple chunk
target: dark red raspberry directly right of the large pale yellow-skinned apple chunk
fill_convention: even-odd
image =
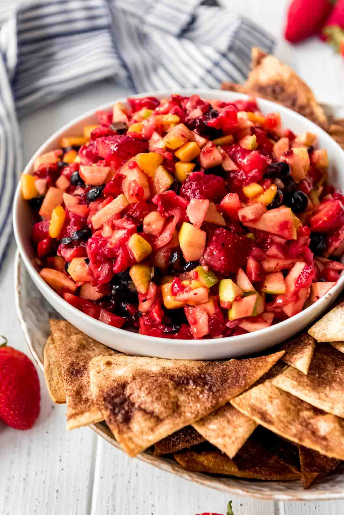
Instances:
[[[248,237],[217,229],[204,251],[203,261],[216,272],[224,275],[235,273],[239,268],[246,267],[250,250]]]

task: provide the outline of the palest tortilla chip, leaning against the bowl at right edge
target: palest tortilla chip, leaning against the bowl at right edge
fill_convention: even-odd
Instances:
[[[308,329],[308,334],[317,341],[344,340],[344,302],[336,305],[329,313],[326,313],[312,325]]]

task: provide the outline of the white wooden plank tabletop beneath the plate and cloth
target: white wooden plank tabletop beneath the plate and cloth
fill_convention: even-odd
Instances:
[[[3,1],[3,0],[2,0]],[[11,0],[12,2],[12,0]],[[225,0],[277,37],[285,0]],[[344,103],[344,62],[329,46],[309,41],[297,48],[280,41],[277,55],[291,64],[322,100]],[[320,65],[321,63],[321,65]],[[325,73],[324,73],[325,71]],[[78,114],[130,92],[109,82],[56,102],[21,122],[24,157]],[[28,353],[14,308],[12,243],[0,271],[0,334]],[[64,406],[53,405],[43,375],[41,414],[27,432],[0,423],[0,515],[194,515],[224,513],[228,495],[159,471],[110,447],[89,428],[67,432]],[[235,515],[339,515],[344,501],[272,503],[234,497]]]

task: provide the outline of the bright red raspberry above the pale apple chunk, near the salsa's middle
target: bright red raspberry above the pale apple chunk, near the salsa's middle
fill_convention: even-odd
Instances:
[[[209,199],[219,202],[226,194],[226,188],[222,177],[212,174],[204,174],[203,171],[194,171],[183,182],[179,195],[188,200],[192,198]]]

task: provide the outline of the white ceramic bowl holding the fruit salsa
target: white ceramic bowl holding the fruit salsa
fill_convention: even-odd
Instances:
[[[198,94],[201,98],[217,98],[224,101],[247,98],[247,95],[217,90],[184,90],[162,93],[150,92],[136,96],[143,97],[150,95],[161,99],[170,96],[171,93],[180,93],[183,95]],[[119,100],[124,103],[126,102],[126,98],[121,98]],[[110,109],[112,104],[113,102],[111,104],[100,106],[98,109]],[[279,111],[282,116],[283,125],[290,128],[297,134],[305,131],[315,133],[318,136],[319,147],[326,148],[329,155],[330,182],[339,190],[344,190],[344,174],[340,174],[340,170],[344,170],[344,151],[325,131],[320,129],[314,123],[309,122],[307,118],[304,118],[290,109],[274,104],[274,102],[258,99],[258,106],[260,111],[264,114]],[[30,159],[29,163],[25,167],[24,173],[32,173],[34,159],[37,156],[58,148],[59,141],[62,136],[77,136],[82,134],[84,125],[96,123],[95,112],[98,109],[89,111],[84,116],[79,116],[73,122],[65,125],[62,129],[55,132],[55,134],[53,134],[53,136],[51,136],[51,138],[49,138]],[[307,307],[304,311],[288,320],[254,333],[227,338],[203,340],[153,338],[125,331],[123,329],[113,328],[110,325],[95,320],[81,311],[78,311],[71,304],[59,297],[55,291],[43,281],[31,263],[31,260],[35,257],[35,248],[32,245],[30,238],[32,222],[33,217],[28,207],[28,203],[22,199],[20,187],[18,186],[17,191],[15,192],[13,205],[13,228],[15,239],[24,264],[41,294],[65,319],[75,325],[75,327],[80,331],[83,331],[109,347],[128,354],[176,359],[220,359],[259,352],[272,347],[304,329],[306,325],[321,315],[326,307],[328,307],[338,296],[344,286],[343,274],[338,280],[336,286],[334,286],[328,294],[322,297],[315,304]]]

